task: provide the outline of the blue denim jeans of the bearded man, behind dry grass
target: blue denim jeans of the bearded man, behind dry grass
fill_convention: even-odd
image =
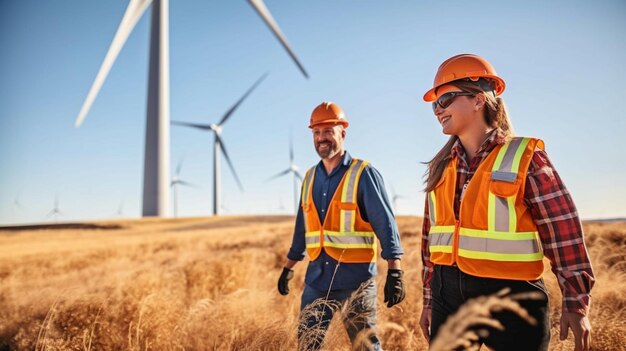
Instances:
[[[358,294],[354,294],[355,292]],[[317,290],[305,285],[298,326],[299,350],[319,350],[335,312],[341,309],[343,324],[354,350],[382,351],[376,336],[376,284],[371,279],[357,290]],[[363,332],[359,335],[359,333]]]

